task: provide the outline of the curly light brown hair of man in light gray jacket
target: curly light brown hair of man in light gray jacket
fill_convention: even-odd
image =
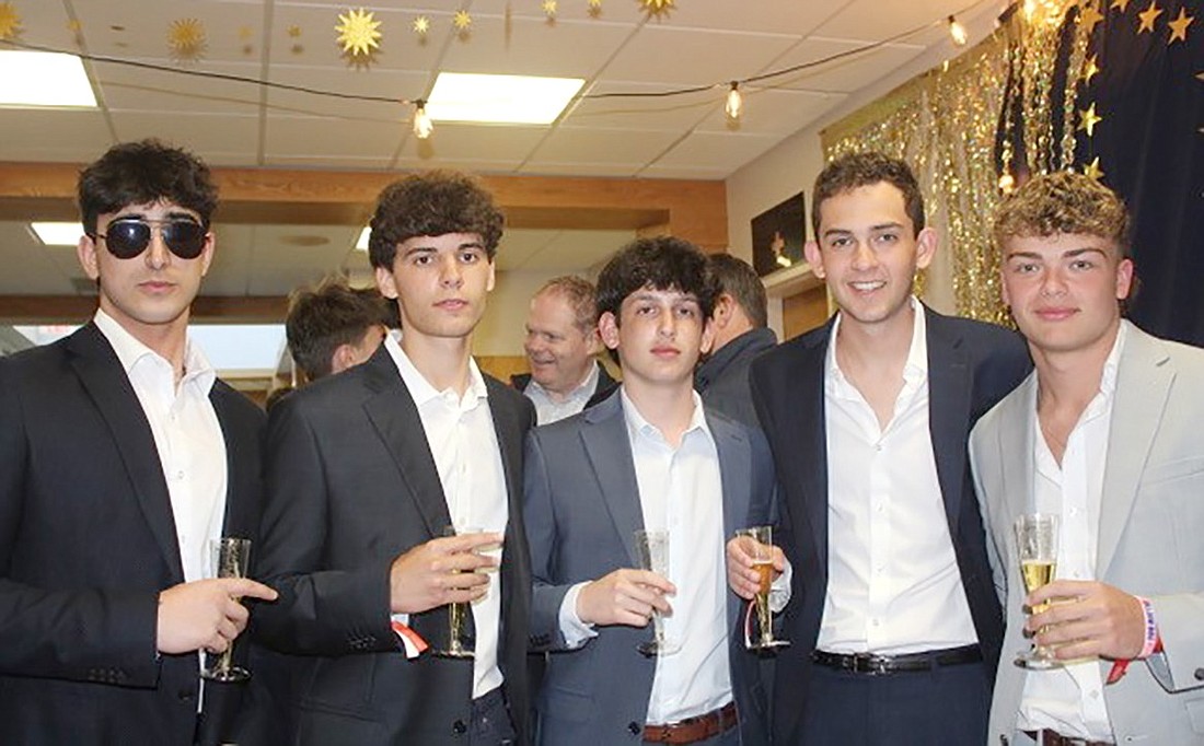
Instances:
[[[1011,237],[1081,233],[1114,242],[1122,259],[1129,251],[1125,201],[1090,176],[1070,171],[1034,176],[1004,197],[993,232],[1001,249]]]

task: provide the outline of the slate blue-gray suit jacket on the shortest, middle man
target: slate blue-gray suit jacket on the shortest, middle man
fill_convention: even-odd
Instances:
[[[760,431],[707,412],[719,451],[724,533],[767,523],[773,514],[773,464]],[[638,567],[632,533],[643,527],[636,467],[620,396],[527,436],[524,522],[531,543],[531,646],[553,650],[536,697],[543,744],[639,744],[655,659],[636,646],[651,627],[612,626],[576,650],[563,650],[560,604],[574,584]],[[744,650],[742,604],[728,593],[732,689],[746,745],[768,742],[757,658]]]

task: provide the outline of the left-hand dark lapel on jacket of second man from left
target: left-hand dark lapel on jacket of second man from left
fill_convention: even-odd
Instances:
[[[364,366],[365,383],[376,392],[364,402],[364,413],[396,462],[401,481],[418,507],[426,532],[432,538],[441,537],[443,529],[452,525],[452,515],[418,405],[385,345],[382,344]]]

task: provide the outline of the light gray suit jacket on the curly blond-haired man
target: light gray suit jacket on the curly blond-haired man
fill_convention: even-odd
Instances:
[[[1104,687],[1116,740],[1204,744],[1204,350],[1146,334],[1128,321],[1108,436],[1096,578],[1153,603],[1164,656],[1134,663]],[[1013,739],[1028,647],[1013,520],[1033,504],[1037,375],[970,434],[988,553],[1007,612],[1004,661],[991,706],[991,744]],[[1111,662],[1102,661],[1106,677]],[[1026,742],[1023,740],[1019,742]]]

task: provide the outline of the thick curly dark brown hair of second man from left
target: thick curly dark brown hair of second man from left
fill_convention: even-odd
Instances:
[[[492,261],[506,219],[494,196],[458,171],[426,171],[384,188],[372,215],[368,260],[391,268],[397,244],[414,236],[478,233]]]

